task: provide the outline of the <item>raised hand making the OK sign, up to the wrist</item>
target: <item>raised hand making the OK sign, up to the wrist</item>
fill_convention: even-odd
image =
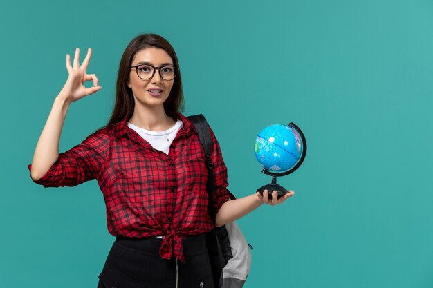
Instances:
[[[75,102],[82,97],[91,95],[101,89],[98,85],[98,78],[95,74],[86,74],[87,67],[92,55],[92,50],[87,50],[86,58],[80,66],[80,48],[75,50],[73,65],[71,65],[71,56],[66,55],[66,69],[68,70],[68,79],[64,84],[60,95],[65,97],[68,102]],[[86,81],[93,81],[93,87],[86,88],[84,83]]]

